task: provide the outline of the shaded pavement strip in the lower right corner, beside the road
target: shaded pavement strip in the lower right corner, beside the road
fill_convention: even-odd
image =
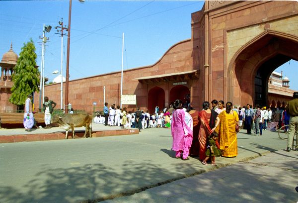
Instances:
[[[298,151],[279,150],[104,203],[296,203]]]

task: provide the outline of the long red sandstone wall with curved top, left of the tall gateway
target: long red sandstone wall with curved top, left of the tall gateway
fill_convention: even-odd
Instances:
[[[138,80],[133,79],[193,70],[192,47],[193,45],[190,39],[179,42],[173,45],[162,58],[152,66],[123,71],[123,94],[137,95],[138,106],[147,109],[147,93],[152,85],[148,87],[147,84],[141,84]],[[196,82],[193,83],[197,86]],[[97,102],[96,110],[102,110],[104,105],[104,86],[106,102],[120,105],[121,72],[113,72],[70,81],[69,102],[74,109],[84,109],[89,112],[93,111],[92,103]],[[162,86],[162,83],[158,83],[156,86]],[[60,108],[60,87],[61,84],[45,86],[45,96],[57,102],[57,108]],[[164,87],[164,89],[166,88]],[[65,96],[63,96],[63,99],[65,99]],[[38,107],[38,95],[35,96],[35,101],[35,106]],[[195,103],[194,105],[197,106],[197,101],[193,102]],[[65,102],[63,101],[63,103]],[[123,106],[127,106],[129,110],[134,110],[136,107],[135,105]]]

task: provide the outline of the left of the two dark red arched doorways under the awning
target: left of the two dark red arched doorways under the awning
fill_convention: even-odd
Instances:
[[[164,90],[159,87],[151,88],[148,92],[148,110],[154,113],[155,106],[159,106],[159,109],[164,107]]]

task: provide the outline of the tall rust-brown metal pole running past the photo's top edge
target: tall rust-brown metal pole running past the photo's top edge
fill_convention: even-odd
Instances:
[[[69,89],[69,65],[70,65],[70,43],[71,43],[71,17],[72,17],[72,0],[70,0],[69,10],[69,28],[67,36],[67,61],[66,61],[66,81],[65,81],[65,113],[68,113],[68,89]]]

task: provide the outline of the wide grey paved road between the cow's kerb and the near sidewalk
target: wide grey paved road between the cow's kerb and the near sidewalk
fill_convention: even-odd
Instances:
[[[217,168],[286,147],[277,133],[263,134],[239,133],[239,155],[219,157]],[[171,141],[169,129],[152,128],[138,135],[0,144],[0,200],[101,201],[216,169],[196,158],[173,158]]]

